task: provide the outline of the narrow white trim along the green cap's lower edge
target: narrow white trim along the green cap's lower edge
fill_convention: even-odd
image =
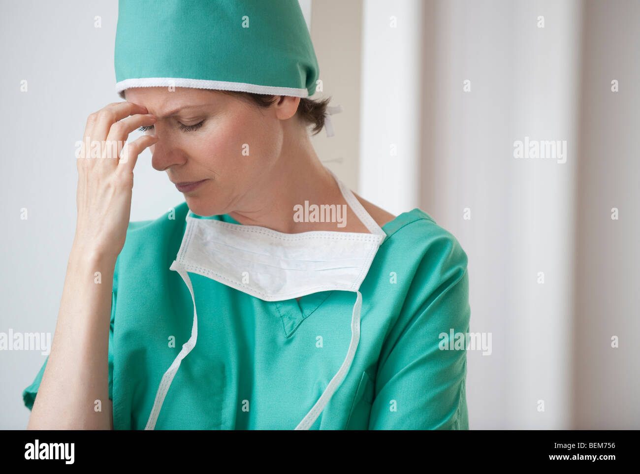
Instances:
[[[141,77],[140,79],[125,79],[124,81],[116,83],[116,93],[122,97],[122,91],[132,87],[168,87],[172,85],[175,87],[190,87],[195,89],[218,89],[251,92],[255,94],[309,97],[307,89],[260,86],[258,84],[230,83],[227,81],[208,81],[205,79],[184,79],[180,77]]]

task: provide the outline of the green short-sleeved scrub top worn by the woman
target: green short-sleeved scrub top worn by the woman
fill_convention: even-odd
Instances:
[[[109,330],[114,429],[145,428],[164,372],[191,336],[191,294],[169,269],[187,212],[184,202],[159,219],[129,223],[116,260]],[[238,224],[227,214],[204,218]],[[448,342],[450,331],[469,331],[467,255],[420,209],[382,230],[387,237],[360,287],[355,357],[310,429],[468,429],[467,351]],[[189,276],[198,339],[180,363],[156,429],[294,429],[344,361],[355,292],[269,302]],[[29,409],[47,360],[22,393]]]

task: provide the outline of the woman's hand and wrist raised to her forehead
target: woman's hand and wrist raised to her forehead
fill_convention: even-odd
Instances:
[[[115,102],[87,119],[76,159],[74,248],[113,258],[122,251],[131,216],[133,168],[138,155],[154,145],[157,136],[145,135],[126,146],[124,143],[133,130],[156,122],[147,112],[146,107],[132,102]]]

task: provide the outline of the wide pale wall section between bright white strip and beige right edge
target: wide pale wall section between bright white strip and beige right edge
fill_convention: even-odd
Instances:
[[[492,355],[468,354],[470,426],[566,429],[580,4],[438,2],[435,14],[425,205],[467,251],[471,328],[493,341]],[[566,163],[515,159],[526,136],[566,140]]]

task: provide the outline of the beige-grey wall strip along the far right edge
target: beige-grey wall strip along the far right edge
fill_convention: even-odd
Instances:
[[[585,11],[573,413],[577,429],[640,429],[640,3]]]

